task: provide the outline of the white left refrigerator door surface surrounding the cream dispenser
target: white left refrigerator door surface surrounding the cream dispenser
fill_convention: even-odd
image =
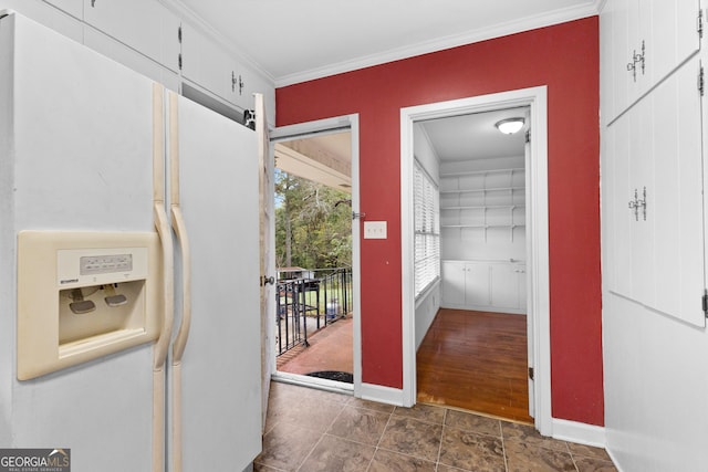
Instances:
[[[18,381],[17,232],[153,231],[152,86],[0,19],[0,447],[70,448],[77,472],[149,470],[152,346]]]

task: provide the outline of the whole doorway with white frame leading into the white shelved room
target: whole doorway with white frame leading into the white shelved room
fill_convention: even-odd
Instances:
[[[404,261],[407,256],[413,260],[403,270],[404,395],[410,403],[446,402],[424,389],[426,380],[430,381],[426,376],[451,366],[449,370],[462,373],[462,377],[481,376],[469,391],[454,381],[455,396],[469,398],[475,387],[479,389],[480,379],[500,374],[503,387],[489,386],[487,397],[509,403],[501,391],[511,389],[510,379],[503,378],[507,375],[516,379],[517,390],[523,390],[525,382],[528,394],[522,392],[522,405],[516,405],[514,413],[488,413],[532,421],[541,432],[552,427],[545,92],[545,87],[533,87],[402,109],[402,245]],[[516,135],[503,136],[494,124],[509,117],[523,118],[524,126]],[[490,141],[486,144],[481,132],[470,136],[456,130],[455,122],[470,133],[475,126],[485,127]],[[472,148],[456,154],[459,143],[456,146],[455,141],[462,136],[470,136],[467,139]],[[507,139],[513,144],[511,150],[494,145],[492,137],[511,137]],[[424,166],[436,181],[440,227],[440,277],[420,294],[415,293],[412,277],[417,249],[412,228],[414,188],[406,183],[416,166]],[[448,327],[438,324],[446,317],[451,319]],[[430,350],[425,338],[437,338],[440,344]],[[459,366],[452,360],[442,360],[444,365],[435,356],[431,367],[423,364],[426,349],[439,354],[440,346],[456,343],[466,348],[477,344],[482,354],[506,357],[514,370],[506,373],[511,367],[503,367],[504,363],[493,368],[496,360],[479,357],[479,352],[452,355],[450,359]],[[418,354],[421,369],[417,369]],[[441,380],[434,376],[431,382],[439,385]],[[513,401],[519,402],[518,398]],[[485,412],[479,407],[460,407]]]

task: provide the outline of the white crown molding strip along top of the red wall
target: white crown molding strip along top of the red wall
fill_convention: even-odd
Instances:
[[[583,18],[594,17],[598,14],[600,3],[606,0],[595,0],[590,6],[570,7],[555,10],[549,13],[528,17],[522,20],[510,21],[507,23],[496,24],[490,28],[468,31],[462,34],[454,34],[449,36],[438,38],[433,41],[420,42],[396,48],[381,53],[356,57],[350,61],[342,61],[323,67],[316,67],[295,74],[275,77],[275,87],[283,87],[301,82],[308,82],[316,78],[351,72],[364,67],[385,64],[387,62],[398,61],[402,59],[413,57],[416,55],[428,54],[431,52],[442,51],[446,49],[457,48],[480,41],[501,38],[509,34],[520,33],[523,31],[535,30],[554,24],[565,23],[568,21],[580,20]]]

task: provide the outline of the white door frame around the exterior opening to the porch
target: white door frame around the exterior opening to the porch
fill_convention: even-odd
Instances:
[[[294,138],[306,138],[309,136],[342,133],[348,130],[352,140],[352,214],[360,212],[360,179],[358,179],[358,114],[336,116],[332,118],[317,119],[314,122],[299,123],[295,125],[281,126],[270,132],[271,153],[273,145],[278,141],[290,140]],[[355,397],[361,397],[362,390],[362,317],[361,317],[361,220],[352,220],[352,303],[353,322],[352,322],[352,344],[353,344],[353,361],[354,361],[354,384],[353,390]],[[274,238],[274,233],[273,233]],[[275,326],[269,324],[271,333],[270,338],[275,338]],[[305,386],[315,386],[319,388],[351,392],[352,389],[342,388],[341,382],[334,382],[326,379],[308,378],[302,380],[302,376],[293,374],[278,373],[275,367],[275,356],[272,356],[271,371],[273,378],[288,381],[291,384],[300,384]]]

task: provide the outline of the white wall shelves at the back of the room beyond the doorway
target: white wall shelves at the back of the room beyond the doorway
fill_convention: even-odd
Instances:
[[[482,231],[525,227],[523,168],[476,170],[440,175],[440,228]]]

